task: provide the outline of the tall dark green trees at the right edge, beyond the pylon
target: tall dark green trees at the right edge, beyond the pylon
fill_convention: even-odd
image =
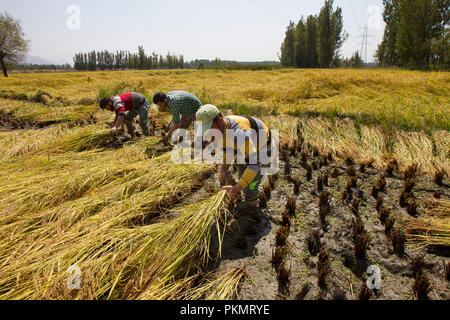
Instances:
[[[383,0],[386,29],[376,58],[381,66],[450,67],[450,0]]]

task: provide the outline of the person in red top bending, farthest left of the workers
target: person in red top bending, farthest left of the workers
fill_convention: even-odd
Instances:
[[[148,100],[140,93],[125,92],[114,98],[103,98],[100,100],[100,108],[116,113],[116,120],[111,128],[112,133],[125,124],[128,133],[134,137],[133,119],[139,115],[139,124],[145,136],[149,136],[148,130]],[[127,112],[128,111],[128,112]]]

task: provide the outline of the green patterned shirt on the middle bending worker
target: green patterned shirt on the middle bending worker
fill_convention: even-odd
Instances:
[[[179,124],[181,116],[195,115],[202,106],[200,100],[186,91],[172,91],[167,94],[167,105],[172,112],[173,124]]]

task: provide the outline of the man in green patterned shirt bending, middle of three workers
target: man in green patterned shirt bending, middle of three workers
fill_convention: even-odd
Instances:
[[[195,120],[195,113],[202,106],[202,103],[196,96],[186,91],[172,91],[168,94],[158,92],[153,97],[153,103],[163,110],[169,107],[172,113],[172,125],[167,135],[160,141],[165,145],[169,142],[176,129],[189,129]]]

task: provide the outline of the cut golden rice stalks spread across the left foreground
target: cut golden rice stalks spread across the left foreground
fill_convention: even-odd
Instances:
[[[224,193],[165,209],[212,167],[154,156],[156,137],[119,150],[101,125],[1,137],[0,299],[135,299],[206,264],[214,221],[223,237]],[[65,284],[72,265],[79,291]]]

